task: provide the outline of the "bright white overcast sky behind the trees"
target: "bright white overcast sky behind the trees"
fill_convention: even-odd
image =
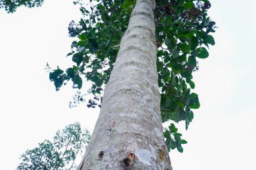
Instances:
[[[72,1],[45,0],[40,8],[0,10],[0,160],[1,169],[15,169],[18,157],[55,132],[80,122],[90,132],[98,109],[86,104],[70,109],[71,85],[56,92],[46,62],[61,68],[72,39],[71,19],[79,16]],[[199,61],[195,91],[201,108],[187,132],[184,153],[171,151],[174,170],[255,170],[255,39],[256,1],[212,0],[210,15],[218,30],[210,57]]]

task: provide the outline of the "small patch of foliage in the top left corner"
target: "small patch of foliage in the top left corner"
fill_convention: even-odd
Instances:
[[[3,8],[8,13],[13,13],[20,6],[40,7],[44,0],[0,0],[0,9]]]

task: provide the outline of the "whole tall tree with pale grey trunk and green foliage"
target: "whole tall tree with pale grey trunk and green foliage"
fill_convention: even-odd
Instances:
[[[210,2],[90,2],[88,9],[84,1],[74,1],[83,13],[78,23],[69,24],[69,35],[79,38],[67,54],[75,65],[65,71],[47,65],[57,91],[67,81],[77,89],[83,79],[92,81],[88,107],[102,108],[80,169],[170,169],[168,151],[183,152],[187,143],[174,122],[185,121],[187,129],[193,120],[192,109],[200,103],[192,92],[192,73],[215,44]],[[77,100],[85,101],[83,95]],[[168,121],[165,145],[161,122]]]

